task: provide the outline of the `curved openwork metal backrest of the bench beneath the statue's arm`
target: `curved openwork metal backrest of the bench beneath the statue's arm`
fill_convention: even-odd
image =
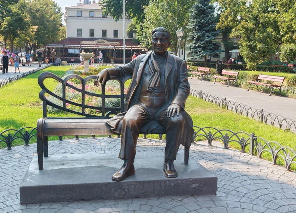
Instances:
[[[51,90],[49,90],[45,85],[44,81],[46,79],[55,79],[59,83],[62,84],[62,93],[61,94],[55,94]],[[118,114],[118,112],[124,112],[124,98],[126,97],[126,94],[124,94],[124,84],[125,82],[131,78],[131,76],[127,76],[124,78],[116,78],[115,81],[118,81],[120,84],[120,94],[118,95],[109,95],[106,94],[105,88],[106,83],[104,85],[100,85],[101,87],[101,94],[94,93],[93,91],[89,90],[90,85],[93,85],[93,80],[96,78],[95,75],[88,76],[86,78],[82,78],[79,75],[71,74],[67,76],[65,79],[61,79],[57,75],[50,73],[50,72],[43,72],[38,77],[38,84],[41,87],[41,92],[39,93],[39,98],[43,102],[43,117],[47,117],[47,106],[52,106],[54,108],[57,108],[59,110],[70,112],[76,115],[86,116],[86,117],[109,117],[109,115]],[[74,86],[69,80],[74,79],[75,81],[79,82],[79,87]],[[89,82],[91,81],[91,82]],[[109,80],[110,81],[110,80]],[[113,81],[113,80],[111,80]],[[81,103],[73,102],[66,97],[66,88],[71,90],[72,92],[79,93],[81,97]],[[108,89],[108,88],[107,88]],[[54,97],[57,101],[52,101],[48,99],[49,96]],[[94,99],[96,104],[89,104],[86,99]],[[120,106],[119,107],[105,107],[105,101],[106,98],[117,98],[120,99]],[[99,99],[102,103],[101,106],[99,106]],[[60,102],[58,104],[57,102]],[[74,105],[77,106],[79,109],[79,112],[74,111],[67,108],[67,105]],[[88,111],[99,111],[99,113],[88,113]]]

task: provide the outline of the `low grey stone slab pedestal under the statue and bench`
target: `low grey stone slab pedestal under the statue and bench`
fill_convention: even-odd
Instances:
[[[52,155],[44,159],[44,170],[38,170],[34,156],[20,186],[20,201],[30,204],[216,193],[217,177],[192,158],[188,165],[182,164],[182,154],[174,163],[178,177],[166,178],[163,156],[162,151],[137,153],[135,175],[121,182],[111,180],[123,164],[115,155]]]

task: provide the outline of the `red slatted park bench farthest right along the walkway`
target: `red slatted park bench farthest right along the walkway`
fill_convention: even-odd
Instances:
[[[263,82],[259,82],[259,81],[267,81],[267,83],[263,83]],[[277,88],[279,91],[280,91],[280,94],[282,95],[282,85],[283,85],[283,82],[285,80],[285,76],[284,77],[281,77],[281,76],[267,76],[267,75],[259,75],[258,78],[257,78],[257,82],[255,81],[248,81],[249,83],[249,88],[247,91],[250,90],[250,88],[255,88],[257,89],[257,91],[259,91],[259,85],[261,85],[261,89],[262,88],[270,88],[270,93],[269,95],[271,95],[272,91],[273,91],[273,88]],[[276,85],[276,84],[270,84],[269,82],[280,82],[281,84],[280,85]],[[254,87],[251,87],[251,86],[254,86]]]

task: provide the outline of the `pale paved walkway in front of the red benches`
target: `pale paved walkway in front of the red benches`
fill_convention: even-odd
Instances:
[[[264,109],[269,113],[282,115],[286,118],[291,118],[296,121],[296,99],[269,96],[266,93],[258,91],[247,91],[247,89],[237,88],[235,86],[222,85],[220,82],[200,81],[197,77],[189,78],[191,89],[202,90],[211,95],[216,95],[221,98],[236,101],[244,105],[254,107],[256,109]]]

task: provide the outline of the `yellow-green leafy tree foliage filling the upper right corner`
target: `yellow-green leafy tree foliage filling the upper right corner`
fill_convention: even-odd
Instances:
[[[218,27],[232,27],[240,37],[240,53],[249,69],[281,52],[288,63],[296,57],[296,0],[216,0],[221,9]]]

